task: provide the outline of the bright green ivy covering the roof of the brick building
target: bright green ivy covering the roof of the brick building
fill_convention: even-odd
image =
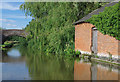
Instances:
[[[108,34],[120,40],[120,2],[106,7],[99,15],[93,15],[86,22],[90,22],[103,34]]]

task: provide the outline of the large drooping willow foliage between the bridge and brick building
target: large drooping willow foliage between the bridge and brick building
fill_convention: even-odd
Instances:
[[[104,3],[103,3],[104,4]],[[98,2],[25,2],[20,9],[33,19],[26,26],[28,48],[39,52],[70,54],[74,50],[73,22],[101,7]],[[69,50],[66,52],[65,50]]]

